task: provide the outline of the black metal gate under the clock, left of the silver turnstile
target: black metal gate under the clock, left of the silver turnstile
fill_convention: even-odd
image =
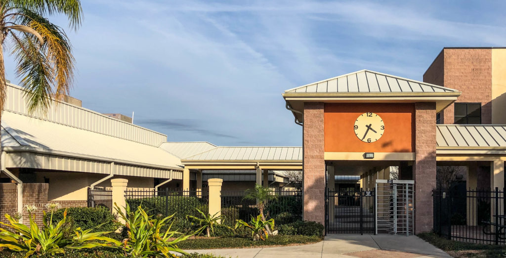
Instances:
[[[374,200],[374,189],[328,191],[325,207],[326,233],[374,233]]]

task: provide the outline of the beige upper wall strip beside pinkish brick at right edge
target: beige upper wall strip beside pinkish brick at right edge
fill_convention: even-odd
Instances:
[[[492,123],[506,124],[506,49],[492,49]]]

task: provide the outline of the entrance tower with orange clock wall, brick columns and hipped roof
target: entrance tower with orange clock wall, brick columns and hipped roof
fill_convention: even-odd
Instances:
[[[333,216],[325,214],[325,193],[334,187],[334,175],[362,177],[397,166],[399,178],[414,180],[415,233],[430,231],[436,113],[459,95],[369,70],[285,91],[287,109],[303,126],[304,220],[325,224]]]

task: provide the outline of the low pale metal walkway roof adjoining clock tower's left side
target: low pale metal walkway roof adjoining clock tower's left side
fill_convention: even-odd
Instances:
[[[224,160],[272,160],[301,161],[302,147],[217,147],[183,160],[186,161],[224,161]]]

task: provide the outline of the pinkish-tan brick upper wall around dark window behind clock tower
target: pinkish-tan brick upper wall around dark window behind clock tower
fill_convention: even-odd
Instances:
[[[445,48],[424,81],[461,91],[456,103],[481,103],[482,123],[492,123],[492,48]],[[443,111],[442,123],[454,122],[453,106]]]

